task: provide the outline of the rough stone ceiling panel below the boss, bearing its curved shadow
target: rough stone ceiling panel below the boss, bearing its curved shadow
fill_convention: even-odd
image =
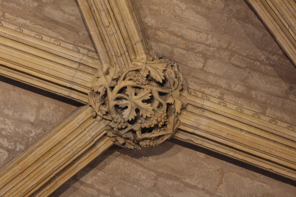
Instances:
[[[165,141],[140,151],[114,146],[51,197],[295,196],[291,183],[239,167],[194,145],[175,143]]]

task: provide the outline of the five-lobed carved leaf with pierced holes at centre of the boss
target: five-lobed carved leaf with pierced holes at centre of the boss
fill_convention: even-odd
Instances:
[[[128,100],[122,99],[119,100],[118,105],[121,108],[128,107],[127,109],[123,110],[123,118],[125,121],[132,120],[136,116],[136,109],[140,110],[140,115],[144,118],[151,117],[154,115],[153,107],[150,103],[143,103],[142,100],[150,99],[151,89],[145,88],[141,89],[140,92],[136,94],[136,90],[130,86],[127,86],[126,94],[128,95]]]

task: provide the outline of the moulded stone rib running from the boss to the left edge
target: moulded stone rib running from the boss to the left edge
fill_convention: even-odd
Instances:
[[[0,43],[1,75],[87,103],[98,60],[3,24]]]

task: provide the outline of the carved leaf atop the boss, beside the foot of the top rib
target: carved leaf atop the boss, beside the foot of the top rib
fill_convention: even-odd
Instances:
[[[141,76],[146,77],[149,75],[158,82],[162,82],[165,79],[163,71],[166,69],[166,64],[156,63],[156,64],[144,64],[141,71]]]

